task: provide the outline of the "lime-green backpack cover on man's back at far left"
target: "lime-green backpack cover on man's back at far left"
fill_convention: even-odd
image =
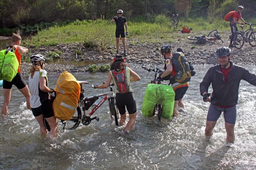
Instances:
[[[13,52],[4,49],[0,51],[0,80],[11,82],[17,74],[19,62]]]

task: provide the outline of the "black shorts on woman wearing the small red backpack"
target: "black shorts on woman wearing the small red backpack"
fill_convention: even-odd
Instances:
[[[125,114],[125,106],[129,114],[134,114],[137,112],[136,101],[133,96],[133,92],[128,92],[125,94],[116,93],[116,106],[119,109],[121,115]]]

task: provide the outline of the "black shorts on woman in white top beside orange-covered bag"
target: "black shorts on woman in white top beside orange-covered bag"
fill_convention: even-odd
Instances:
[[[43,114],[45,118],[50,118],[54,116],[52,102],[49,99],[44,101],[41,106],[37,108],[31,108],[31,110],[35,117],[41,114]]]

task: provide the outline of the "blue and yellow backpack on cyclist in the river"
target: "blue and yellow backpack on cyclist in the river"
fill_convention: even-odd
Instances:
[[[172,55],[170,59],[172,59],[172,63],[175,67],[175,81],[178,83],[189,82],[191,79],[191,69],[185,55],[183,52],[175,52]]]

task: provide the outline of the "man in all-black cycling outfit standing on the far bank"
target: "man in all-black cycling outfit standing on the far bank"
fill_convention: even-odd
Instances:
[[[122,38],[122,45],[124,48],[124,56],[127,56],[126,54],[126,46],[125,46],[125,35],[128,35],[128,27],[127,27],[127,22],[126,22],[126,18],[122,17],[123,11],[122,9],[119,9],[117,11],[118,13],[118,17],[115,16],[113,17],[113,19],[111,20],[111,23],[113,23],[114,21],[116,22],[116,54],[118,54],[118,50],[119,50],[119,37],[121,35]],[[125,29],[126,29],[126,33],[125,33]]]

